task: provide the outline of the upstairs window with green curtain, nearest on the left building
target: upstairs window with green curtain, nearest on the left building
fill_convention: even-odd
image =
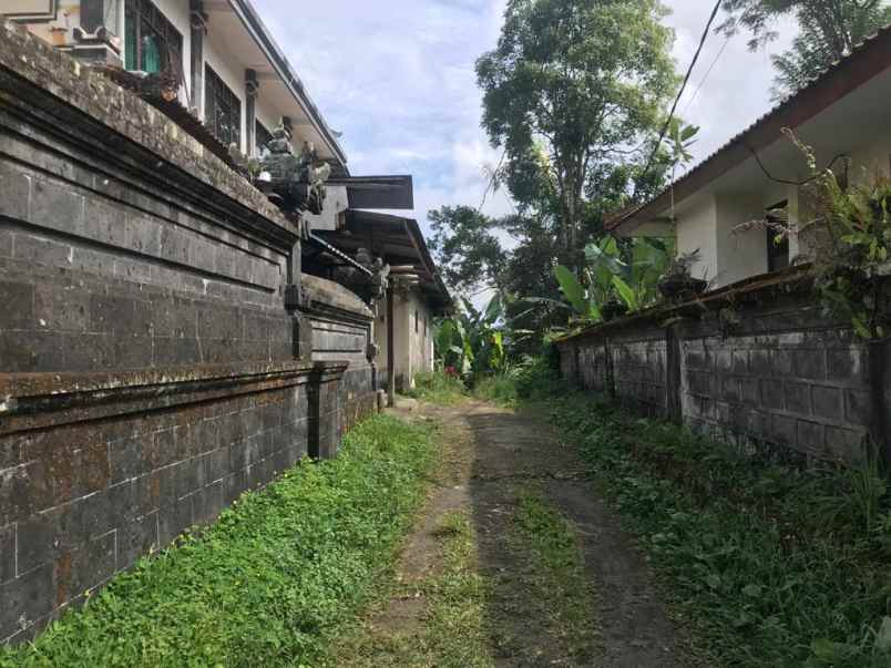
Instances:
[[[183,75],[183,35],[151,0],[126,0],[124,9],[124,66],[150,74],[171,65]]]

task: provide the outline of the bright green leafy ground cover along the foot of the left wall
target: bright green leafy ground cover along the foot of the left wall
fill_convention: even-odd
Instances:
[[[431,434],[378,415],[340,455],[243,495],[0,666],[309,666],[367,604],[432,466]]]

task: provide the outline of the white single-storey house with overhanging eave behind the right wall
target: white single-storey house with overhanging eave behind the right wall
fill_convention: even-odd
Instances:
[[[788,267],[808,256],[807,239],[776,244],[765,229],[735,230],[765,219],[768,210],[788,209],[793,223],[807,223],[809,177],[801,151],[785,127],[813,147],[820,168],[843,167],[852,181],[891,173],[891,27],[867,40],[810,85],[789,97],[748,130],[644,205],[607,222],[618,236],[676,234],[678,253],[699,250],[696,278],[713,288]],[[674,196],[674,226],[672,197]]]

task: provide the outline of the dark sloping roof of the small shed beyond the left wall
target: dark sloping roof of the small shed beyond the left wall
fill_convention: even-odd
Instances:
[[[389,214],[349,209],[342,230],[318,230],[318,236],[355,255],[366,248],[392,267],[411,266],[418,273],[421,290],[438,310],[449,310],[452,297],[437,269],[418,222]]]

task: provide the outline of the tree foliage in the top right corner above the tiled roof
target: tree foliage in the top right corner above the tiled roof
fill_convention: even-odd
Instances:
[[[800,31],[791,49],[774,56],[774,94],[779,99],[800,90],[891,22],[888,4],[887,0],[724,0],[729,17],[718,30],[728,37],[748,31],[749,49],[756,50],[777,38],[778,20],[797,20]]]

